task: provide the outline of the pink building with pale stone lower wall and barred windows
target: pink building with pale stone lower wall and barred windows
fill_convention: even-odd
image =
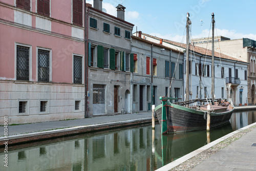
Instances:
[[[84,118],[84,0],[0,0],[0,125]]]

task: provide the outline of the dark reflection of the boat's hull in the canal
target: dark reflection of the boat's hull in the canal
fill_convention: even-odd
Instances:
[[[211,129],[210,139],[214,141],[231,132],[233,132],[233,129],[230,122],[228,122],[221,127]],[[155,144],[155,154],[162,161],[162,166],[164,166],[206,144],[206,130],[161,135]]]

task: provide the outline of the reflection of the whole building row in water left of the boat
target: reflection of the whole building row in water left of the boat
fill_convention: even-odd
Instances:
[[[152,170],[153,165],[154,169],[162,166],[152,157],[151,126],[64,140],[9,151],[6,170]]]

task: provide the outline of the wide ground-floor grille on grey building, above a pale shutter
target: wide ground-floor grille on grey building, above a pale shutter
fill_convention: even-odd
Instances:
[[[105,103],[105,88],[104,85],[93,85],[93,104]]]

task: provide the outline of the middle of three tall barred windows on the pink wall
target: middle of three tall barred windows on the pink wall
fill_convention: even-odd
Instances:
[[[49,82],[50,51],[38,49],[38,81]]]

